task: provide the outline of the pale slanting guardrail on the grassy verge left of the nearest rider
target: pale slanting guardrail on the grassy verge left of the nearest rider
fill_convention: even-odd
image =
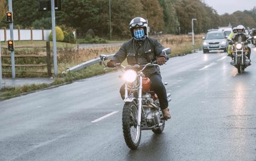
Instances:
[[[114,55],[115,55],[115,54],[107,55],[107,59],[112,58]],[[92,59],[92,60],[89,60],[89,61],[87,61],[87,62],[82,62],[82,63],[76,65],[75,67],[66,69],[66,70],[65,70],[64,72],[62,72],[62,73],[76,72],[76,71],[78,71],[78,70],[80,70],[80,69],[86,68],[86,67],[88,67],[88,66],[90,66],[90,65],[93,65],[93,64],[96,64],[96,63],[98,63],[98,62],[101,62],[101,58],[100,58],[100,57],[95,58],[95,59]]]

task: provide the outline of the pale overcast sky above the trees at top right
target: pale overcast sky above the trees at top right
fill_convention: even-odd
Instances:
[[[240,10],[251,10],[256,6],[256,0],[205,0],[205,4],[217,10],[219,15],[232,14]]]

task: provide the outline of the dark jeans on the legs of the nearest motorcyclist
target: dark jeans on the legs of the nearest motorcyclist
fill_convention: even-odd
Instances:
[[[166,96],[166,89],[162,82],[162,77],[159,74],[154,74],[154,75],[151,75],[149,79],[151,81],[150,91],[155,91],[155,93],[157,94],[161,109],[167,108],[168,100]],[[125,93],[124,88],[125,88],[125,84],[123,84],[120,88],[120,94],[122,99],[124,99],[124,93]]]

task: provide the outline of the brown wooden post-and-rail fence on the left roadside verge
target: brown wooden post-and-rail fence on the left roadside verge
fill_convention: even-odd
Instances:
[[[47,73],[44,72],[30,72],[30,71],[26,71],[26,72],[22,72],[22,73],[27,73],[27,74],[36,74],[36,75],[41,75],[41,74],[48,74],[48,77],[51,77],[52,73],[51,73],[51,52],[50,52],[50,42],[46,42],[46,45],[20,45],[20,46],[15,46],[15,48],[28,48],[28,47],[46,47],[46,56],[44,55],[36,55],[36,54],[26,54],[26,55],[14,55],[15,58],[19,58],[19,57],[45,57],[47,60],[47,63],[43,63],[43,64],[15,64],[15,67],[47,67]],[[6,48],[8,49],[7,46],[1,46],[1,48]],[[2,58],[4,57],[11,57],[11,55],[1,55]],[[11,64],[6,64],[6,63],[2,63],[3,67],[11,67]],[[21,72],[15,72],[16,74],[21,74]],[[7,73],[3,73],[3,74],[7,74]]]

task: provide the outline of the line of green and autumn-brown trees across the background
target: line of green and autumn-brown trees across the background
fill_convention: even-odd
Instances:
[[[0,0],[0,3],[4,4],[0,10],[7,11],[8,0]],[[51,11],[38,11],[38,0],[15,0],[12,7],[14,27],[52,27]],[[109,36],[110,24],[113,36],[130,36],[129,22],[138,16],[148,20],[150,34],[156,31],[187,34],[192,31],[192,18],[197,19],[194,21],[195,33],[229,23],[256,28],[256,7],[219,15],[203,0],[61,0],[61,10],[55,12],[56,26],[76,29],[81,36],[92,29],[100,37]],[[0,12],[0,18],[0,27],[8,28],[5,12]]]

